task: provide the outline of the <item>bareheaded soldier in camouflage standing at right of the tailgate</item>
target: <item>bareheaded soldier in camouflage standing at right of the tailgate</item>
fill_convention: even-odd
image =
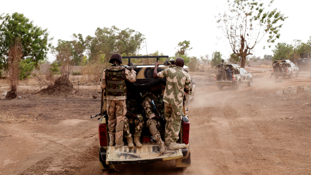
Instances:
[[[177,144],[182,120],[183,94],[188,93],[190,89],[190,76],[183,70],[184,60],[181,57],[176,58],[176,67],[157,72],[159,62],[155,63],[153,78],[166,78],[166,87],[164,91],[164,115],[166,119],[165,126],[165,145],[169,144],[170,150],[182,149],[185,144]]]

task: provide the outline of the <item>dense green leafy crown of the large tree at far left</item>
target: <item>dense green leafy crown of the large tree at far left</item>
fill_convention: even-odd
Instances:
[[[19,40],[22,46],[21,60],[29,59],[38,67],[49,51],[49,32],[35,26],[23,14],[0,15],[0,68],[7,64],[8,50]]]

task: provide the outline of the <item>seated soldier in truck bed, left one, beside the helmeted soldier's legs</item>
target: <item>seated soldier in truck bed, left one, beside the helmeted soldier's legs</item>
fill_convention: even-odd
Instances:
[[[127,110],[133,114],[135,114],[139,120],[143,120],[143,117],[141,114],[139,114],[139,104],[141,104],[141,100],[139,101],[139,99],[142,99],[140,94],[132,94],[132,93],[128,93],[127,94],[127,99],[126,99],[126,107]],[[133,122],[135,123],[135,131],[134,131],[134,143],[137,147],[141,147],[142,144],[140,143],[140,136],[142,134],[142,122],[140,122],[137,119],[134,119],[132,117],[130,117],[130,119],[128,119],[128,115],[126,115],[125,120],[124,120],[124,134],[123,136],[125,138],[127,138],[128,140],[128,147],[133,147],[133,141],[132,141],[132,134],[130,133],[130,120],[133,120]]]

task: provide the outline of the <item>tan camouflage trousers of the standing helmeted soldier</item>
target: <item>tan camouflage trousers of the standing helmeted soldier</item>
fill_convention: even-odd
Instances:
[[[125,100],[107,100],[108,133],[115,135],[115,143],[121,144],[126,114]]]

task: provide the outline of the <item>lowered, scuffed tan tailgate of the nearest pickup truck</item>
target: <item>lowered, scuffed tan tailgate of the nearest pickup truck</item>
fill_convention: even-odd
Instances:
[[[167,147],[166,151],[160,154],[160,147],[157,144],[132,148],[122,146],[119,149],[109,146],[106,164],[160,162],[179,158],[183,158],[181,149],[170,151]]]

